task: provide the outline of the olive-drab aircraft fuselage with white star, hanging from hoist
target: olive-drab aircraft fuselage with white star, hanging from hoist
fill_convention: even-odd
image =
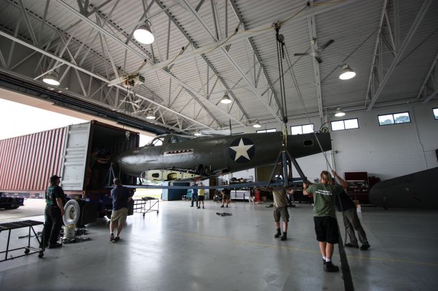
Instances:
[[[155,146],[157,142],[162,145]],[[212,137],[169,134],[123,152],[114,162],[123,173],[145,180],[194,180],[273,164],[282,143],[281,132]],[[318,154],[320,146],[323,151],[331,150],[330,133],[287,136],[292,158]]]

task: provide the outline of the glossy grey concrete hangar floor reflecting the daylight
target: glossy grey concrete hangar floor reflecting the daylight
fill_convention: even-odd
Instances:
[[[289,209],[282,242],[266,205],[160,202],[158,215],[128,217],[118,243],[99,219],[87,225],[90,241],[0,262],[0,290],[343,290],[341,273],[322,270],[311,206]],[[356,290],[437,290],[438,212],[362,209],[372,248],[346,250]],[[233,215],[218,217],[222,211]],[[0,223],[19,220],[4,213]],[[25,245],[23,234],[12,232],[14,246]],[[337,248],[334,262],[340,266]]]

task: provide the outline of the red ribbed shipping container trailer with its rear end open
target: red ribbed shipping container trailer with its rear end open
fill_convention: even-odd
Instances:
[[[67,197],[80,205],[80,224],[109,216],[112,178],[137,182],[112,167],[112,156],[137,148],[139,141],[139,133],[95,120],[0,140],[0,207],[44,199],[49,177],[56,174]]]

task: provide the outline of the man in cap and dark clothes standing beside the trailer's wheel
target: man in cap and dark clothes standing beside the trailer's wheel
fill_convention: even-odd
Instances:
[[[61,177],[53,175],[50,177],[50,186],[46,189],[46,208],[44,210],[44,233],[42,242],[44,246],[49,246],[49,249],[62,247],[62,244],[57,243],[62,227],[62,215],[64,215],[64,204],[66,195],[60,187]]]

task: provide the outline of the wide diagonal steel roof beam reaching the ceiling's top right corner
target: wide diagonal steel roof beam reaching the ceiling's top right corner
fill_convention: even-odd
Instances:
[[[402,45],[400,46],[400,48],[398,49],[398,51],[396,53],[396,57],[392,61],[391,66],[389,66],[389,69],[387,70],[385,77],[381,81],[374,96],[372,96],[370,105],[368,105],[368,109],[367,109],[368,111],[370,111],[372,109],[372,107],[373,107],[374,103],[376,102],[376,100],[378,99],[378,97],[381,96],[383,88],[385,87],[385,85],[389,81],[389,77],[391,77],[392,72],[394,72],[394,69],[398,65],[398,62],[400,61],[404,51],[406,50],[407,46],[409,45],[413,36],[415,35],[415,32],[417,31],[417,28],[420,26],[420,23],[422,22],[424,16],[426,15],[426,12],[427,12],[430,4],[432,3],[432,1],[433,0],[424,0],[420,10],[417,13],[417,16],[415,17],[415,20],[413,21],[413,23],[411,25],[411,28],[409,29],[409,31],[407,33],[407,36],[404,38]]]

